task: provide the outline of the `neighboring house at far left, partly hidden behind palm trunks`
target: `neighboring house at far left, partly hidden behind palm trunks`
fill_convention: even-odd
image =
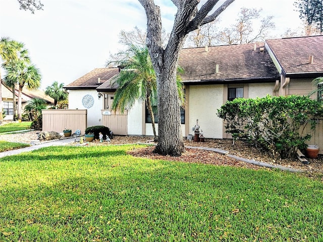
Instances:
[[[5,111],[6,116],[4,120],[13,120],[13,110],[14,110],[14,103],[13,103],[13,93],[10,88],[2,85],[2,100],[3,100],[3,110]],[[15,89],[16,95],[16,107],[18,105],[18,89]],[[28,101],[32,98],[41,98],[47,103],[47,107],[51,107],[54,105],[54,99],[47,96],[41,90],[28,90],[27,88],[23,88],[22,90],[22,110],[24,110]]]

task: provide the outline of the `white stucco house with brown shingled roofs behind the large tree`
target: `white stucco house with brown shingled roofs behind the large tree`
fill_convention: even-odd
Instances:
[[[227,100],[307,95],[316,89],[311,81],[323,76],[323,36],[187,48],[180,53],[179,65],[185,70],[181,75],[186,95],[183,136],[193,133],[198,119],[204,137],[229,138],[216,114]],[[65,86],[69,108],[87,109],[87,126],[104,125],[119,135],[151,136],[145,104],[136,103],[124,112],[110,109],[117,88],[113,78],[119,71],[94,69]]]

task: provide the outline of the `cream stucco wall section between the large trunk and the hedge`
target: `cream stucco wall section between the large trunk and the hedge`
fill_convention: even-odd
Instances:
[[[194,134],[192,127],[198,119],[205,138],[223,138],[223,122],[217,116],[217,109],[223,104],[223,88],[223,85],[190,86],[189,134]]]

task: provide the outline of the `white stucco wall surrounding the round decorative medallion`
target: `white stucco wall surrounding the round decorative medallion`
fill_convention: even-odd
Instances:
[[[93,97],[93,106],[90,108],[82,104],[85,95]],[[69,90],[69,109],[87,109],[87,127],[102,125],[102,97],[98,98],[96,90]]]

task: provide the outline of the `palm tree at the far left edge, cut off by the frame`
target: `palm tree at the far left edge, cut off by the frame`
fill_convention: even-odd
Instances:
[[[17,42],[11,40],[8,37],[2,37],[0,39],[0,61],[4,63],[17,59]],[[0,70],[0,113],[2,114],[2,79]],[[0,115],[0,122],[3,116]]]

